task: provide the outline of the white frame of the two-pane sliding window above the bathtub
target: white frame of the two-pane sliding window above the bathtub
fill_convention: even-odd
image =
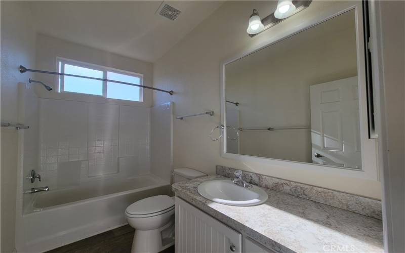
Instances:
[[[92,63],[87,63],[87,62],[82,62],[82,61],[76,61],[76,60],[71,60],[71,59],[66,59],[63,57],[56,57],[56,69],[60,73],[65,72],[65,67],[64,65],[73,65],[77,67],[83,67],[83,68],[88,68],[88,69],[93,69],[93,70],[98,70],[103,72],[103,79],[107,79],[107,74],[108,72],[113,72],[117,74],[123,74],[123,75],[129,75],[133,77],[138,77],[139,78],[139,85],[143,85],[143,74],[136,73],[136,72],[131,72],[127,70],[122,70],[122,69],[116,69],[116,68],[111,68],[111,67],[106,67],[106,66],[101,66],[97,64],[92,64]],[[95,97],[101,97],[101,98],[106,98],[106,99],[114,99],[114,100],[121,100],[121,101],[131,101],[131,102],[145,102],[144,101],[144,92],[142,87],[139,88],[139,100],[127,100],[127,99],[117,99],[117,98],[108,98],[107,97],[107,81],[102,81],[103,82],[103,87],[102,87],[102,95],[96,95],[96,94],[89,94],[89,93],[80,93],[80,92],[70,92],[70,91],[65,91],[64,90],[64,76],[59,75],[58,78],[56,78],[56,91],[58,93],[70,93],[70,94],[80,94],[80,95],[85,95],[85,96],[95,96]]]

